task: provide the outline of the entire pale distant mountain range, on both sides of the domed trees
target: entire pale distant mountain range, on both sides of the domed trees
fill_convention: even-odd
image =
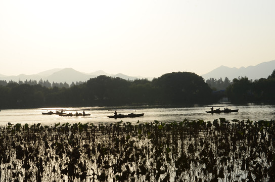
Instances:
[[[248,67],[241,67],[241,68],[229,68],[226,66],[220,66],[209,73],[201,75],[204,80],[214,78],[219,79],[222,78],[224,80],[225,77],[230,79],[231,81],[234,78],[240,77],[248,77],[248,79],[260,79],[260,78],[267,78],[273,70],[275,69],[275,60],[269,61],[269,62],[263,62],[256,66],[248,66]],[[146,78],[148,80],[152,80],[152,77],[143,77],[143,76],[128,76],[124,74],[109,74],[102,70],[91,72],[91,73],[81,73],[79,71],[76,71],[72,68],[64,68],[64,69],[51,69],[47,71],[43,71],[40,73],[37,73],[35,75],[25,75],[20,74],[18,76],[5,76],[0,74],[0,80],[6,80],[6,81],[25,81],[25,80],[36,80],[37,82],[42,79],[43,81],[49,80],[51,83],[64,83],[65,81],[68,84],[71,84],[72,82],[76,81],[87,81],[90,78],[95,78],[99,75],[106,75],[106,76],[112,76],[112,77],[120,77],[126,80],[135,80],[135,79],[142,79]]]

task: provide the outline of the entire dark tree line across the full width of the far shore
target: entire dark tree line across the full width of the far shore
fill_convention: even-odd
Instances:
[[[239,77],[230,82],[225,78],[224,81],[220,79],[222,84],[228,86],[224,91],[216,92],[217,88],[210,88],[208,80],[205,82],[201,76],[190,72],[167,73],[152,81],[129,81],[101,75],[69,87],[64,84],[62,87],[54,84],[46,86],[41,80],[37,84],[10,81],[6,85],[0,84],[0,109],[210,104],[223,97],[232,103],[275,101],[275,70],[266,79],[252,81],[247,77]]]

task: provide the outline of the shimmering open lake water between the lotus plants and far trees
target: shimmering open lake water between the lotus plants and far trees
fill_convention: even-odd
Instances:
[[[220,113],[211,114],[206,113],[210,107],[214,109],[228,107],[229,109],[239,109],[237,113]],[[124,107],[127,108],[127,107]],[[90,113],[90,116],[72,116],[62,117],[59,115],[42,115],[42,112],[56,111],[63,109],[65,112],[72,112],[73,114],[85,110],[86,113]],[[114,111],[121,114],[128,113],[145,113],[144,117],[138,118],[122,118],[113,119],[107,116],[113,115]],[[86,107],[86,108],[38,108],[38,109],[7,109],[0,112],[0,125],[5,126],[8,122],[12,124],[34,124],[41,123],[52,125],[55,123],[94,123],[94,124],[110,124],[120,120],[124,122],[136,123],[140,122],[154,122],[158,120],[160,122],[173,122],[183,121],[185,118],[192,121],[203,119],[204,121],[213,121],[214,119],[225,118],[226,120],[271,120],[275,119],[275,105],[259,105],[259,104],[247,104],[247,105],[231,105],[231,104],[214,104],[214,105],[194,105],[188,107],[161,107],[161,106],[145,106],[143,109],[121,109],[110,107]]]

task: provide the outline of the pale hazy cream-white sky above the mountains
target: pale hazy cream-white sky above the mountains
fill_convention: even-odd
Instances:
[[[0,74],[159,77],[275,59],[274,0],[0,0]]]

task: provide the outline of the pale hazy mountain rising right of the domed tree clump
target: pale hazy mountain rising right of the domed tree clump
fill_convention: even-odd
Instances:
[[[275,69],[275,60],[269,61],[269,62],[263,62],[256,66],[248,66],[248,67],[241,67],[241,68],[229,68],[226,66],[220,66],[209,73],[206,73],[204,75],[201,75],[204,80],[210,78],[222,78],[224,80],[225,77],[230,79],[231,81],[234,78],[240,77],[248,77],[248,79],[260,79],[260,78],[267,78],[273,70]]]

